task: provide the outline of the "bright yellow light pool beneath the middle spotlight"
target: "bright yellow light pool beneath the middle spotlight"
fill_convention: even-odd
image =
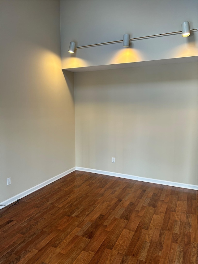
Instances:
[[[119,50],[111,59],[110,64],[130,63],[143,61],[140,52],[136,49],[122,49]]]

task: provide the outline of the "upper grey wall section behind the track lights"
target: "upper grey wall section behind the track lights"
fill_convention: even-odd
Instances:
[[[197,1],[60,1],[62,68],[130,63],[197,55],[198,32],[102,45],[68,53],[70,41],[88,45],[197,28]]]

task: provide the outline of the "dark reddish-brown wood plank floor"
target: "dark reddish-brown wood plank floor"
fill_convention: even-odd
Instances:
[[[0,210],[0,263],[197,264],[197,191],[75,171]]]

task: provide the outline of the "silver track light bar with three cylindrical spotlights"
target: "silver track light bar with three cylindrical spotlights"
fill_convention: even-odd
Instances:
[[[123,42],[123,47],[129,47],[130,41],[152,38],[152,37],[162,37],[162,36],[167,36],[167,35],[175,35],[175,34],[180,34],[180,33],[182,33],[183,37],[188,37],[190,35],[190,31],[197,31],[197,30],[198,30],[197,28],[190,29],[190,23],[188,21],[186,21],[186,22],[182,23],[182,30],[181,31],[173,31],[173,32],[168,32],[168,33],[161,33],[161,34],[156,34],[156,35],[149,35],[149,36],[144,36],[144,37],[134,37],[134,38],[130,38],[129,34],[124,34],[123,39],[121,39],[121,40],[108,41],[108,42],[102,42],[102,43],[96,43],[96,44],[88,44],[88,45],[77,46],[77,47],[75,46],[75,42],[71,41],[68,51],[70,53],[74,53],[75,50],[77,50],[77,49],[94,47],[94,46],[101,46],[101,45],[107,45],[107,44],[114,44],[114,43],[119,43],[119,42]]]

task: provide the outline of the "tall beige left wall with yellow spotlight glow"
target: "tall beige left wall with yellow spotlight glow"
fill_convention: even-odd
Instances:
[[[0,4],[5,201],[75,167],[74,76],[61,69],[59,1]]]

